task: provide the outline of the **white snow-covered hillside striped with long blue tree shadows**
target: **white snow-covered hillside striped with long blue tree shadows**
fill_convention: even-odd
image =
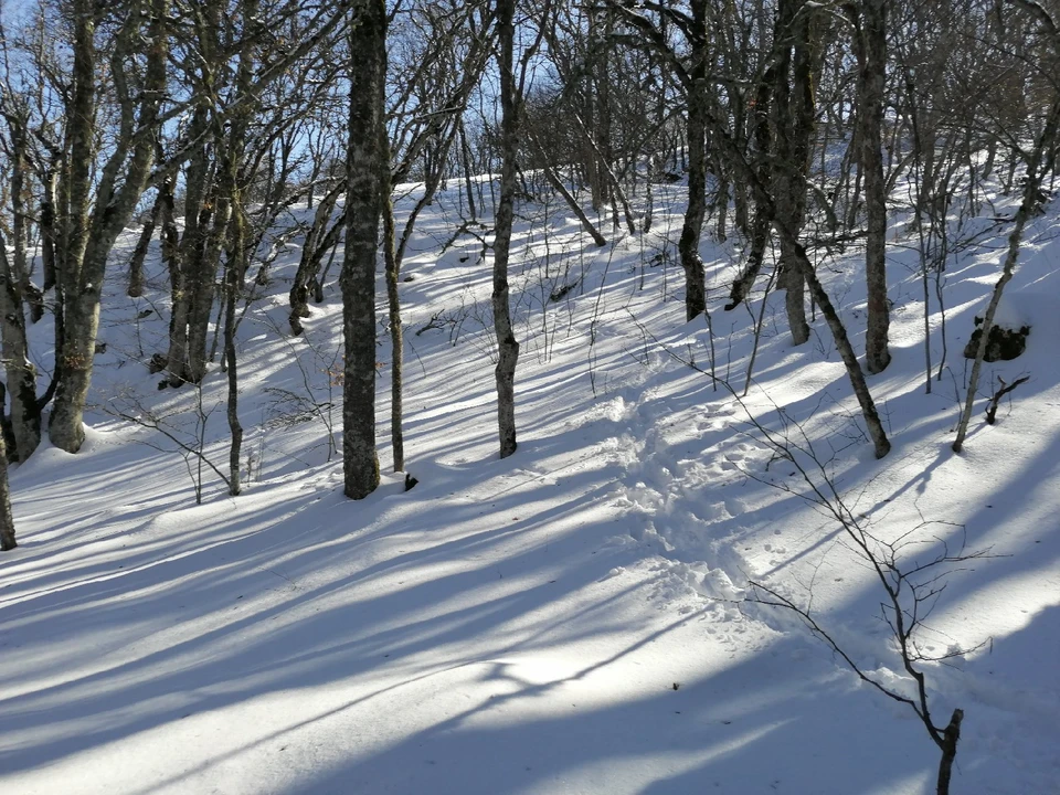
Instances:
[[[114,415],[160,416],[194,444],[195,392],[158,391],[145,365],[165,350],[167,277],[153,256],[150,300],[126,298],[119,252],[88,442],[76,456],[45,443],[12,470],[21,547],[0,559],[0,792],[934,792],[939,753],[912,711],[796,616],[749,600],[754,580],[812,605],[865,671],[909,691],[879,584],[756,422],[812,443],[875,536],[923,526],[925,555],[989,551],[954,566],[921,636],[925,654],[951,655],[923,664],[933,717],[965,711],[953,792],[1060,793],[1056,211],[1034,223],[1009,286],[1028,350],[987,365],[983,389],[1030,380],[996,425],[976,411],[961,456],[961,349],[1006,229],[984,220],[947,265],[947,367],[925,394],[923,288],[894,220],[894,360],[870,379],[893,451],[877,462],[827,327],[817,318],[792,348],[783,295],[765,306],[748,396],[713,388],[706,324],[683,321],[682,189],[657,191],[651,232],[615,232],[604,248],[555,201],[520,209],[520,443],[505,460],[490,261],[471,235],[442,251],[458,198],[438,198],[401,286],[420,483],[406,492],[385,475],[361,502],[342,497],[329,439],[330,424],[341,449],[337,286],[290,338],[297,246],[273,267],[240,328],[251,481],[230,498],[204,469],[197,506],[194,460]],[[714,371],[739,393],[764,279],[751,312],[724,312],[740,251],[702,253]],[[858,253],[820,272],[860,348]],[[147,309],[160,314],[138,317]],[[937,367],[934,297],[930,321]],[[51,333],[46,320],[33,329],[42,365]],[[382,325],[380,339],[389,468]],[[214,367],[202,401],[219,466],[223,390]]]

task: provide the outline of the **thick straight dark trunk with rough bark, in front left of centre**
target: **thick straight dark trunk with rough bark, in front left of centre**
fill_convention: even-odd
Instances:
[[[350,125],[347,152],[342,330],[346,367],[342,453],[346,496],[362,499],[379,486],[375,453],[375,253],[382,211],[382,139],[386,135],[386,7],[354,0],[350,26]]]

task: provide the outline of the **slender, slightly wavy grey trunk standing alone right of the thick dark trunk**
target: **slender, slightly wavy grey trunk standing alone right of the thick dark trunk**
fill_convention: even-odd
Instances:
[[[520,97],[515,75],[516,0],[497,0],[498,57],[500,60],[500,197],[494,220],[494,331],[497,335],[497,427],[500,457],[516,452],[516,364],[519,342],[511,327],[508,300],[508,257],[516,201],[516,155],[519,145]]]

